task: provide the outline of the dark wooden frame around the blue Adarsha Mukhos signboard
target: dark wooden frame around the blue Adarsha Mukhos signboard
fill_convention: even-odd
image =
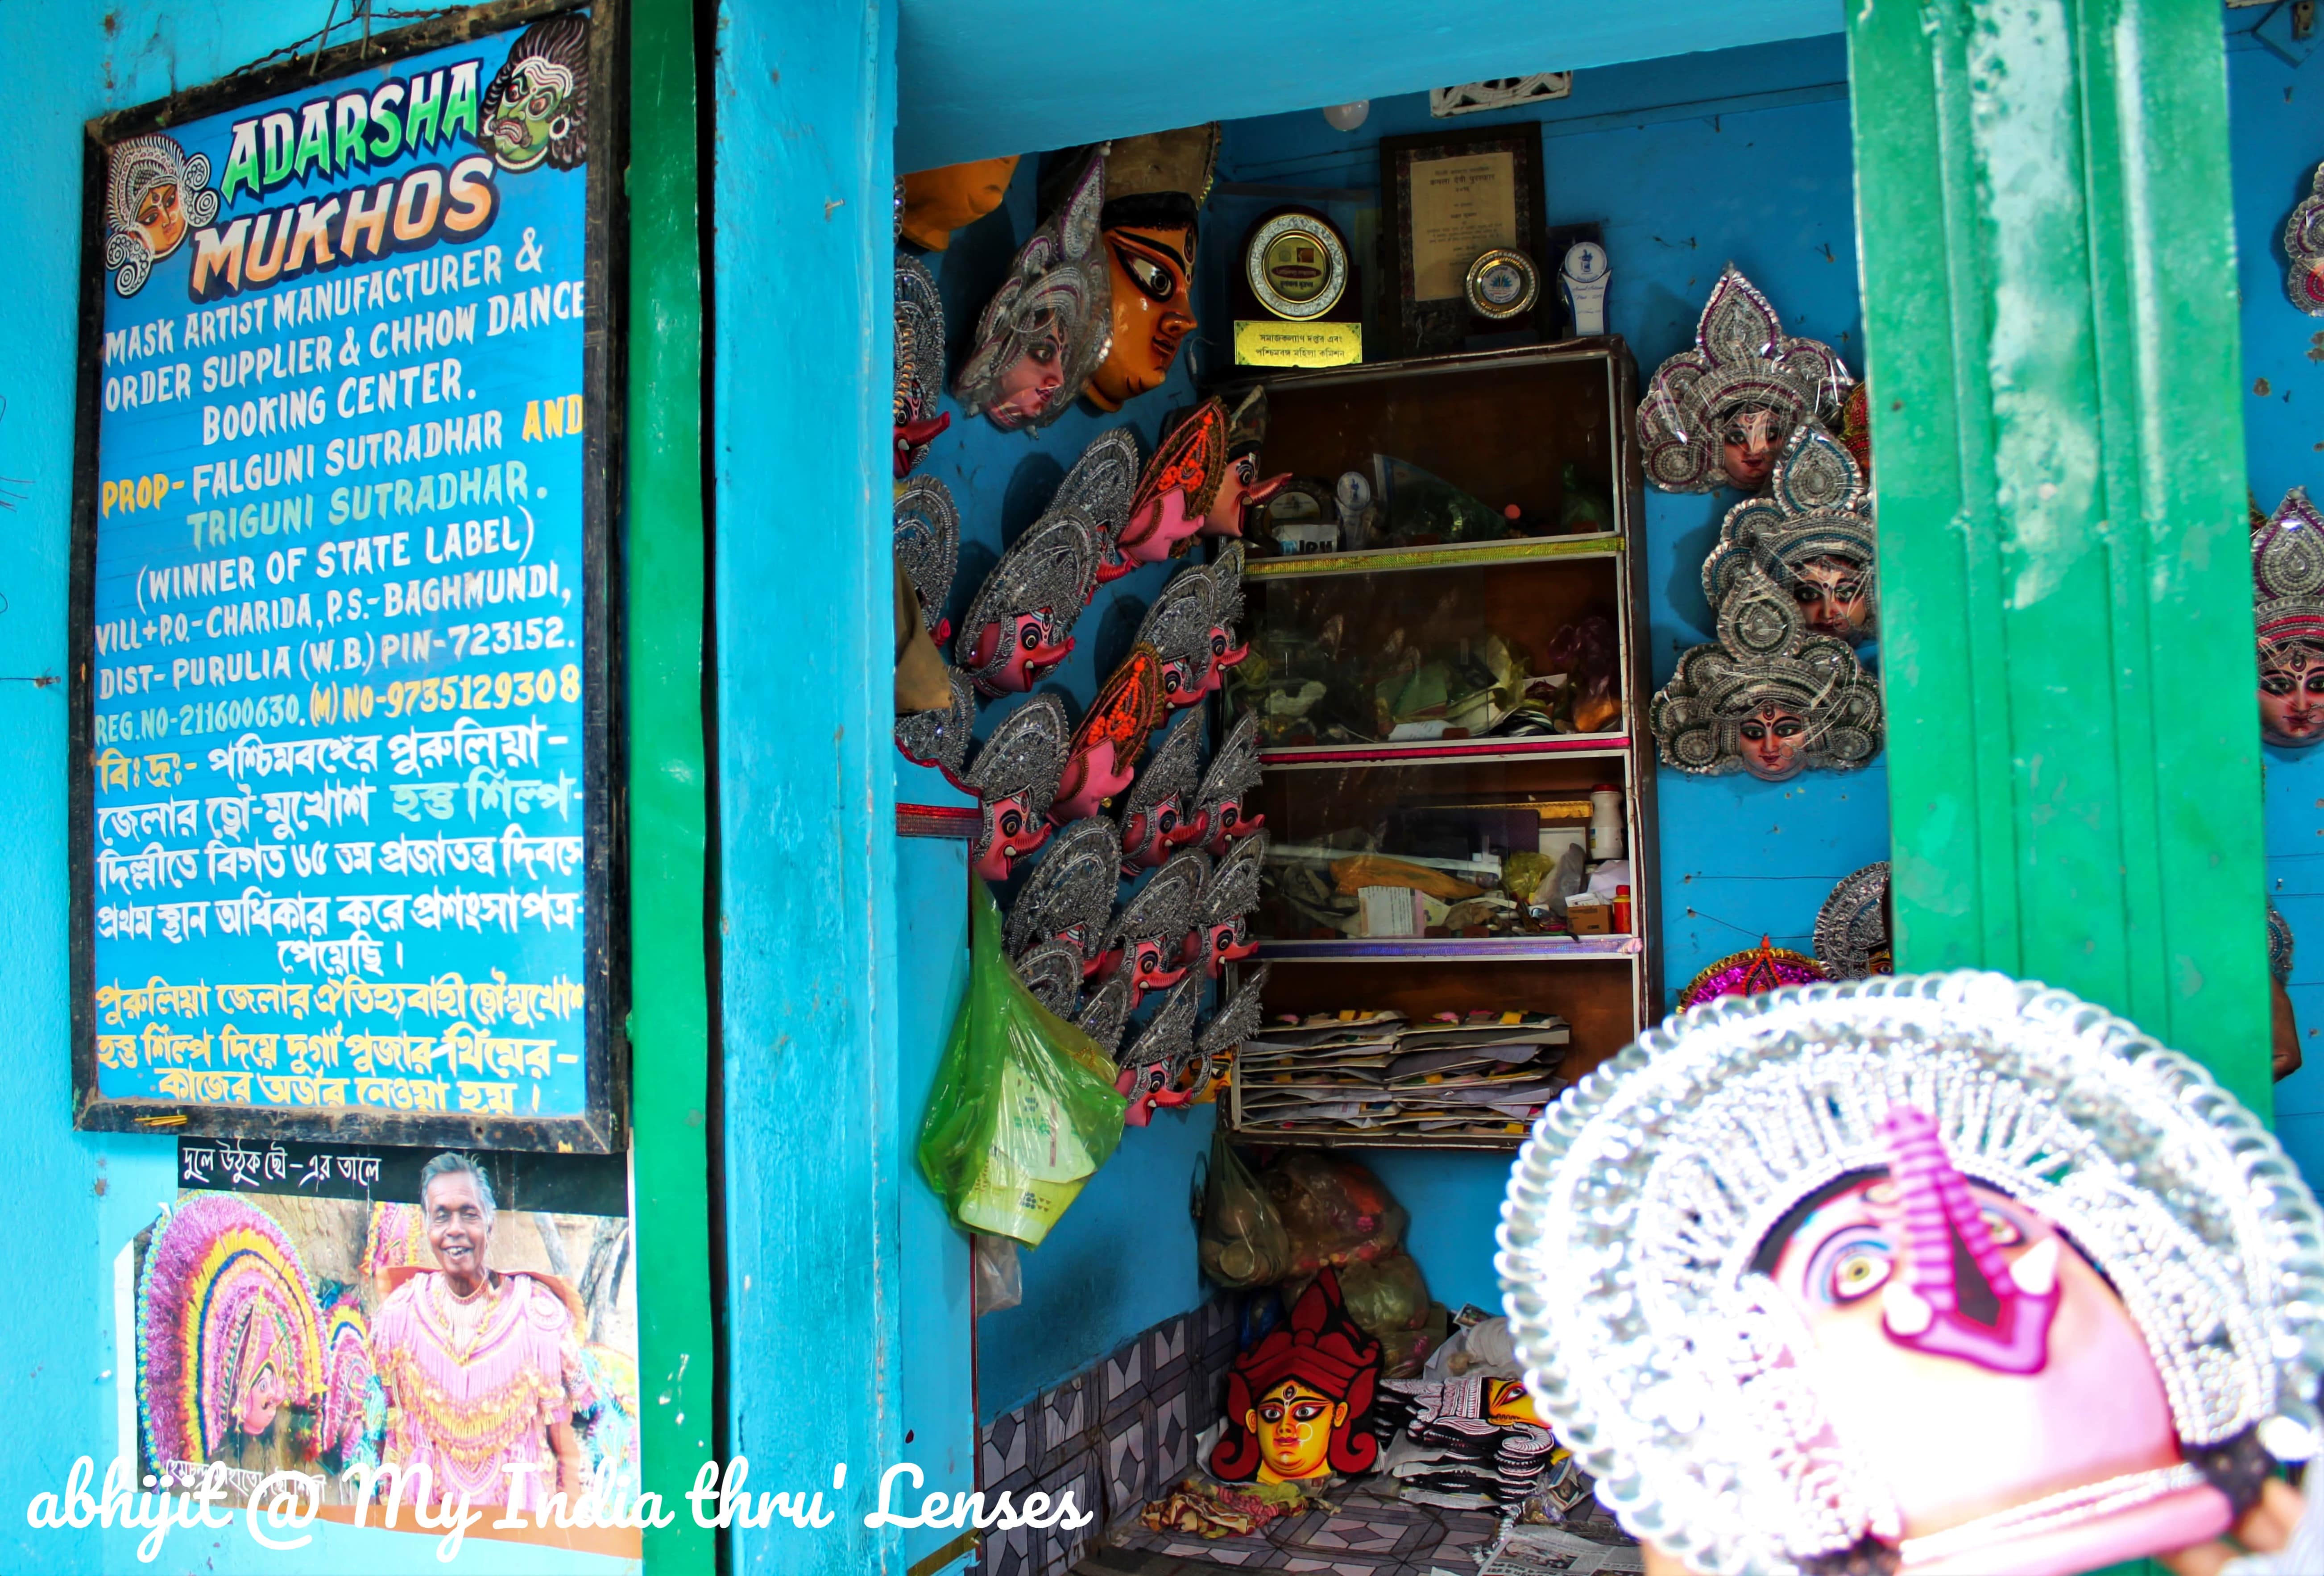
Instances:
[[[532,1116],[525,1111],[381,1109],[379,1104],[244,1104],[170,1097],[107,1097],[100,1090],[95,1009],[95,579],[102,481],[100,421],[105,407],[105,300],[114,284],[107,265],[107,149],[123,137],[163,132],[188,121],[256,105],[267,98],[314,95],[335,77],[353,77],[409,56],[458,46],[486,35],[511,33],[555,16],[583,12],[588,26],[586,88],[586,307],[581,318],[581,579],[567,607],[581,614],[581,834],[583,853],[579,958],[583,988],[579,1111]],[[325,49],[316,56],[242,72],[167,100],[91,121],[84,139],[81,205],[81,346],[77,395],[77,453],[72,497],[72,723],[70,723],[70,867],[72,867],[72,1099],[74,1127],[98,1132],[163,1132],[307,1139],[337,1144],[465,1144],[474,1148],[530,1148],[609,1153],[627,1144],[627,1041],[621,1034],[627,981],[625,914],[616,911],[623,886],[621,818],[614,788],[621,781],[618,697],[618,595],[611,576],[614,521],[621,511],[623,453],[623,332],[627,293],[621,223],[621,172],[627,163],[623,0],[497,0],[446,12],[411,28],[381,33]],[[446,132],[449,135],[449,132]],[[474,149],[467,149],[474,151]],[[304,165],[302,165],[304,167]],[[523,177],[516,177],[523,179]],[[295,191],[290,193],[297,195]],[[284,219],[288,225],[288,216]],[[502,239],[502,237],[495,237]],[[530,239],[530,237],[525,237]],[[514,249],[516,235],[507,237]],[[191,251],[193,242],[186,242]],[[374,251],[376,256],[376,251]],[[414,256],[430,256],[425,251]],[[200,397],[200,395],[195,395]],[[548,400],[555,402],[555,400]],[[544,402],[544,404],[548,404]],[[321,437],[321,432],[318,432]],[[386,504],[381,504],[386,507]],[[539,623],[539,621],[532,621]],[[479,969],[481,974],[481,969]],[[539,1086],[535,1086],[537,1090]]]

